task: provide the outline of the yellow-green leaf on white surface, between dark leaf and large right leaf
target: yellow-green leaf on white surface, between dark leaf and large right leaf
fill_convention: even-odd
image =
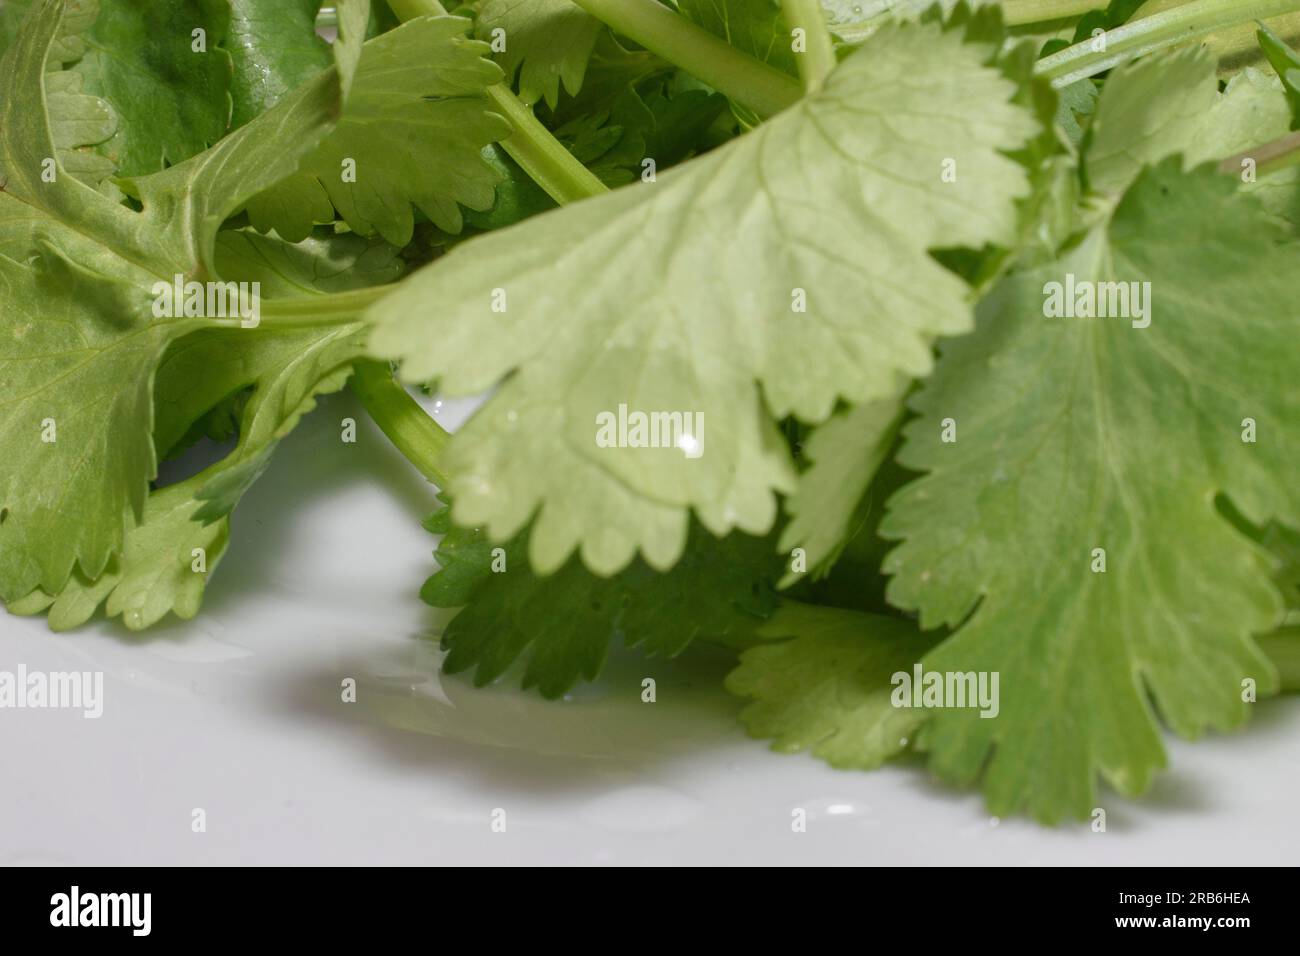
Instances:
[[[745,650],[727,676],[728,691],[750,698],[740,717],[753,736],[854,770],[906,749],[926,711],[896,708],[890,679],[910,675],[933,636],[897,618],[801,604],[783,604],[763,635],[790,640]]]

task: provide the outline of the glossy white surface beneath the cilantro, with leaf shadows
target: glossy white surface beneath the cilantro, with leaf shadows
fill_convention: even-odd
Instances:
[[[452,410],[443,414],[454,418]],[[459,411],[463,411],[459,410]],[[352,415],[359,440],[343,445]],[[991,821],[919,766],[837,773],[749,740],[724,658],[619,656],[547,704],[437,672],[425,485],[347,395],[235,512],[199,618],[56,636],[0,611],[0,669],[101,670],[104,714],[0,710],[4,864],[1295,864],[1300,700],[1170,741],[1105,834]],[[356,704],[341,682],[359,683]],[[641,679],[658,680],[642,704]],[[203,808],[207,832],[191,831]],[[493,832],[494,809],[506,831]],[[790,829],[807,810],[807,832]]]

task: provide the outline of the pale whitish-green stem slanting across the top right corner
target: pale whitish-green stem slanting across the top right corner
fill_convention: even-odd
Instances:
[[[1050,79],[1054,87],[1069,86],[1134,56],[1176,47],[1236,23],[1296,10],[1300,10],[1300,0],[1195,0],[1106,31],[1104,49],[1093,48],[1098,38],[1088,38],[1044,57],[1036,73]]]

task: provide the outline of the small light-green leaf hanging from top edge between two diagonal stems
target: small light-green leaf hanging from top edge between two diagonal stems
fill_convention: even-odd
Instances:
[[[504,42],[497,62],[506,82],[519,75],[519,96],[532,105],[545,99],[554,109],[560,83],[571,95],[582,88],[601,21],[572,0],[484,0],[476,35]]]

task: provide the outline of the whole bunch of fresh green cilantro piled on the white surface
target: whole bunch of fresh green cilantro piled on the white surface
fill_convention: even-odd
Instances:
[[[1300,0],[147,7],[0,7],[9,613],[200,613],[350,384],[478,684],[714,643],[1048,823],[1300,689]]]

